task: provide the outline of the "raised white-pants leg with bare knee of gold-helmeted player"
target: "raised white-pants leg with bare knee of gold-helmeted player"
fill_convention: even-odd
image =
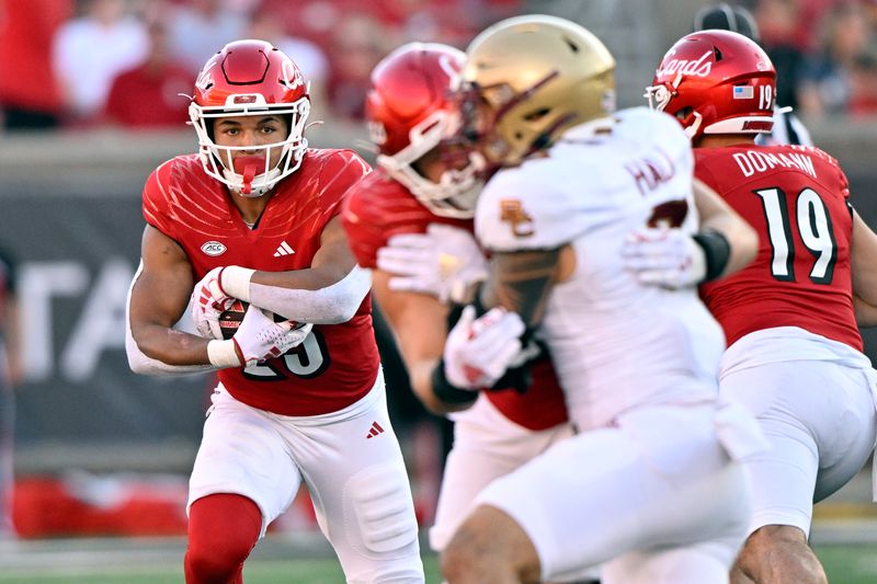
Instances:
[[[448,581],[469,582],[466,574],[475,573],[486,583],[504,582],[510,572],[515,582],[534,574],[550,581],[636,549],[736,537],[718,582],[727,581],[749,517],[748,490],[709,410],[628,414],[619,428],[562,440],[494,481],[445,550]],[[517,529],[483,507],[502,511]],[[486,547],[491,553],[480,553]]]

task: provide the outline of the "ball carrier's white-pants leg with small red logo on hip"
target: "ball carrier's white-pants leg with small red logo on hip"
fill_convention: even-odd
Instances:
[[[287,426],[317,519],[349,584],[421,584],[418,523],[383,379],[334,414]]]

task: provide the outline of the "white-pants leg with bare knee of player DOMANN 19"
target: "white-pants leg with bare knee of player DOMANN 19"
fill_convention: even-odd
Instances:
[[[825,582],[807,542],[812,502],[854,477],[874,446],[867,375],[829,362],[778,363],[725,374],[721,390],[756,415],[770,444],[747,461],[754,513],[737,570],[755,582]]]

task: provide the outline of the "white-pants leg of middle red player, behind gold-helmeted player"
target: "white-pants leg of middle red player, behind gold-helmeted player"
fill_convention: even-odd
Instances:
[[[441,552],[475,496],[493,479],[505,476],[572,435],[568,424],[531,431],[506,419],[486,397],[454,417],[454,447],[445,461],[430,547]]]

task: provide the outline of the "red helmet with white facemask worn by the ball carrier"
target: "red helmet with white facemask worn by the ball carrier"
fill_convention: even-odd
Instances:
[[[260,147],[257,162],[236,169],[231,163],[235,150],[250,147],[217,146],[213,140],[213,121],[217,117],[265,115],[286,116],[289,135],[285,140]],[[308,141],[303,136],[310,112],[308,88],[295,62],[264,41],[247,39],[229,43],[214,55],[198,73],[189,117],[198,135],[204,170],[243,196],[265,194],[284,176],[301,164]],[[280,161],[269,168],[272,148],[282,149]]]

